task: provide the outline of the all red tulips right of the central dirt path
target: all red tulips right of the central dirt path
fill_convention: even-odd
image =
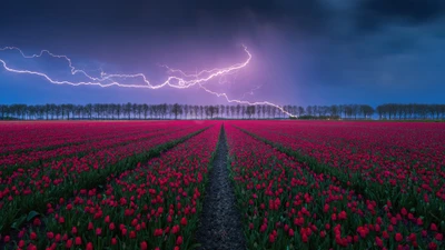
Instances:
[[[249,249],[445,247],[443,123],[231,126]]]

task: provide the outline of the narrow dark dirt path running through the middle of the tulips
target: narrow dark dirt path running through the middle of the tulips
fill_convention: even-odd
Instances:
[[[217,154],[209,173],[204,209],[198,226],[200,250],[245,250],[241,218],[227,169],[226,132],[221,130]]]

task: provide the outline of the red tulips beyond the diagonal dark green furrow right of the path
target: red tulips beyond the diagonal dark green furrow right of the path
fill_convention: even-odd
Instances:
[[[281,152],[427,222],[445,218],[445,127],[435,123],[237,122]],[[445,229],[443,229],[445,230]]]

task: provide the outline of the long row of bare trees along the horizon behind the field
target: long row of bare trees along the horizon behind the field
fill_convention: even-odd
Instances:
[[[303,119],[372,119],[387,120],[445,119],[445,104],[387,103],[376,109],[368,104],[283,106]],[[21,120],[121,120],[121,119],[285,119],[289,116],[274,106],[192,106],[146,103],[89,104],[0,104],[0,119]]]

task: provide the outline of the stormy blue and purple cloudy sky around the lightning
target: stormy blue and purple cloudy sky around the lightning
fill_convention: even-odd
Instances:
[[[3,0],[0,47],[67,54],[93,73],[162,81],[157,64],[195,71],[251,63],[226,84],[230,97],[278,104],[445,102],[443,0]],[[18,53],[1,52],[22,68]],[[62,76],[43,58],[29,67]],[[28,64],[27,64],[28,66]],[[253,94],[250,89],[256,89]],[[55,86],[0,68],[1,103],[224,103],[198,88],[137,90]]]

